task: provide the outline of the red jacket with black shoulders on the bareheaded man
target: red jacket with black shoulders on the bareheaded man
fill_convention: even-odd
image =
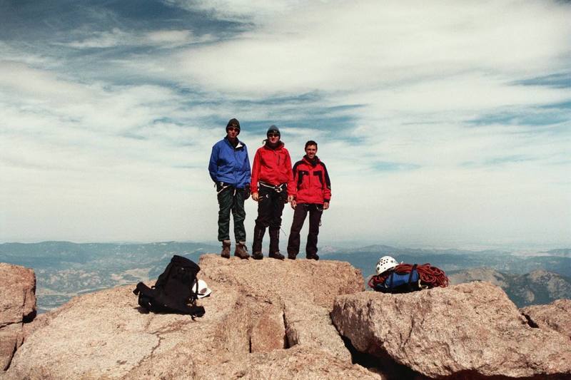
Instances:
[[[325,164],[317,156],[313,163],[307,155],[293,165],[293,180],[295,187],[295,201],[298,203],[318,203],[331,200],[331,182]]]

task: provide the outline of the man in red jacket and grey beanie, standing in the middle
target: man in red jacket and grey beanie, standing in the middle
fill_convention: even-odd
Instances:
[[[270,230],[270,257],[283,260],[280,253],[281,214],[285,203],[293,200],[293,173],[290,153],[280,140],[281,133],[271,125],[264,145],[258,148],[252,165],[252,199],[258,202],[258,218],[254,227],[252,258],[263,259],[262,240],[266,227]]]

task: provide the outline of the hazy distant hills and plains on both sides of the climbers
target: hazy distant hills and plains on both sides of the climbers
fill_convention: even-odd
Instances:
[[[4,243],[0,244],[0,262],[23,265],[35,270],[39,312],[45,312],[78,294],[154,279],[163,272],[173,255],[185,256],[198,262],[204,253],[219,251],[218,245],[200,242]],[[498,276],[502,276],[502,281],[515,289],[517,284],[525,283],[524,279],[519,279],[523,278],[522,275],[537,270],[558,274],[567,281],[567,278],[571,277],[570,252],[569,249],[561,249],[541,252],[538,256],[522,257],[511,252],[495,250],[423,250],[370,245],[356,249],[325,247],[319,254],[322,260],[350,262],[354,267],[361,269],[365,277],[374,274],[379,257],[384,255],[392,255],[399,262],[419,264],[430,262],[447,273],[487,267],[500,273]],[[303,254],[299,257],[303,257]],[[533,278],[537,277],[534,281],[538,284],[541,282],[551,284],[545,285],[546,289],[560,287],[564,289],[561,294],[567,294],[566,298],[570,297],[569,293],[565,293],[567,289],[565,285],[553,280],[552,275],[547,276],[550,278],[537,273],[534,276]],[[506,292],[516,304],[544,303],[551,296],[546,295],[546,291],[540,290],[539,285],[537,286],[537,289],[530,290],[533,296],[529,293],[519,294],[507,290]],[[548,292],[548,294],[554,294],[555,297],[555,294],[559,293]]]

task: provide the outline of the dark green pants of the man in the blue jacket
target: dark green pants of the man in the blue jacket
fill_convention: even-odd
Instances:
[[[230,212],[234,218],[234,237],[236,242],[246,242],[244,220],[244,190],[228,187],[218,193],[218,241],[230,240]]]

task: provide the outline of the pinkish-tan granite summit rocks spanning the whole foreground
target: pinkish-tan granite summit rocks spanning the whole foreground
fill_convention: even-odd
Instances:
[[[347,262],[203,255],[198,264],[198,278],[212,289],[198,300],[203,317],[146,313],[132,292],[135,284],[85,294],[33,322],[20,317],[24,343],[0,377],[571,376],[571,341],[554,327],[567,319],[546,316],[535,323],[532,315],[541,313],[524,316],[487,282],[381,294],[364,292],[360,271]],[[551,310],[568,311],[567,304]]]

